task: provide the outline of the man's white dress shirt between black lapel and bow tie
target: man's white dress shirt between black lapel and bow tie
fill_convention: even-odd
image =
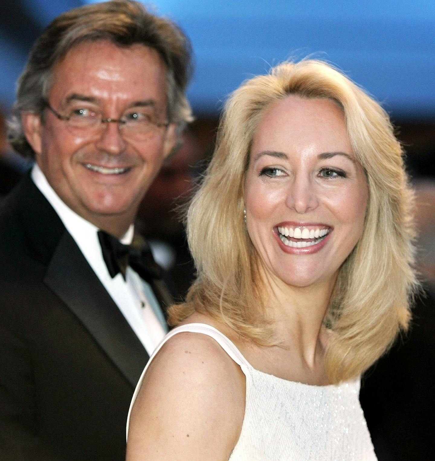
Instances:
[[[71,234],[96,276],[123,313],[148,355],[151,355],[168,330],[150,285],[142,280],[131,267],[127,267],[125,280],[120,273],[112,278],[101,253],[97,235],[99,229],[65,205],[36,164],[32,169],[31,177],[36,187],[59,215],[66,230]],[[133,225],[130,225],[121,242],[127,245],[131,243],[133,231]],[[65,255],[65,258],[67,257],[68,255]]]

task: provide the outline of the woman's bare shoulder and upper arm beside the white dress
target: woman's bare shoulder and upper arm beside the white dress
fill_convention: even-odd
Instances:
[[[240,367],[211,337],[170,337],[145,373],[129,427],[128,460],[228,460],[245,410]]]

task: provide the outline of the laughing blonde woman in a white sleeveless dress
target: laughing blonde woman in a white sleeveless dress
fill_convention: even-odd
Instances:
[[[284,63],[236,90],[127,460],[376,459],[359,376],[409,320],[410,206],[387,114],[338,71]]]

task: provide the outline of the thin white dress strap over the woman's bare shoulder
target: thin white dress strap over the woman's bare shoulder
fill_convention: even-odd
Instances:
[[[147,371],[147,368],[155,355],[159,352],[160,348],[163,346],[163,344],[168,341],[171,337],[176,335],[177,333],[183,333],[183,332],[189,332],[189,333],[202,333],[203,335],[207,335],[212,337],[221,347],[222,349],[237,363],[239,366],[247,366],[251,368],[251,365],[249,362],[243,357],[241,354],[240,350],[235,347],[235,344],[232,343],[223,333],[221,333],[219,330],[216,328],[212,327],[211,325],[207,325],[205,323],[188,323],[186,325],[181,325],[177,326],[173,330],[171,330],[159,343],[159,345],[154,349],[153,354],[151,355],[149,361],[147,362],[147,365],[145,366],[141,378],[139,378],[139,382],[136,385],[135,393],[133,394],[133,398],[131,399],[130,403],[130,408],[129,408],[129,414],[127,417],[127,437],[129,433],[129,422],[130,422],[130,413],[131,409],[133,408],[133,404],[135,403],[137,394],[139,393],[139,390],[141,388],[142,380],[145,375],[145,372]]]

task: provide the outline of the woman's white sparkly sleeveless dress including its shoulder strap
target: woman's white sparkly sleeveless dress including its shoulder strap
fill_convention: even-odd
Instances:
[[[229,461],[375,461],[359,404],[359,379],[313,386],[255,370],[235,345],[210,325],[193,323],[170,331],[157,346],[136,386],[127,420],[149,363],[182,331],[215,339],[246,376],[245,417]]]

